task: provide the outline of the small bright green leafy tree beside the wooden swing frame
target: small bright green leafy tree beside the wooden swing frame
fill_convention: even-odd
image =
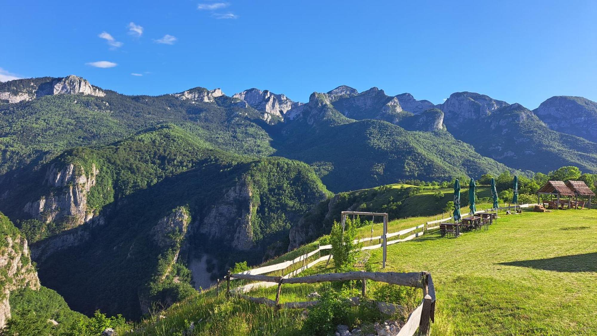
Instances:
[[[342,225],[334,221],[330,232],[330,244],[334,256],[334,269],[336,272],[349,272],[355,270],[356,254],[361,249],[362,243],[355,243],[356,225],[350,218],[346,219],[344,232]],[[359,220],[360,222],[360,220]]]

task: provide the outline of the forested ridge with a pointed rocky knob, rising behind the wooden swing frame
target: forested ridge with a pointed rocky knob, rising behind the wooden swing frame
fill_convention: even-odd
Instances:
[[[274,137],[273,146],[277,155],[315,167],[332,191],[370,188],[402,179],[441,181],[457,175],[481,176],[507,169],[442,130],[416,132],[381,120],[341,119],[344,116],[325,94],[313,94],[301,108],[286,125],[276,125],[281,131]]]

